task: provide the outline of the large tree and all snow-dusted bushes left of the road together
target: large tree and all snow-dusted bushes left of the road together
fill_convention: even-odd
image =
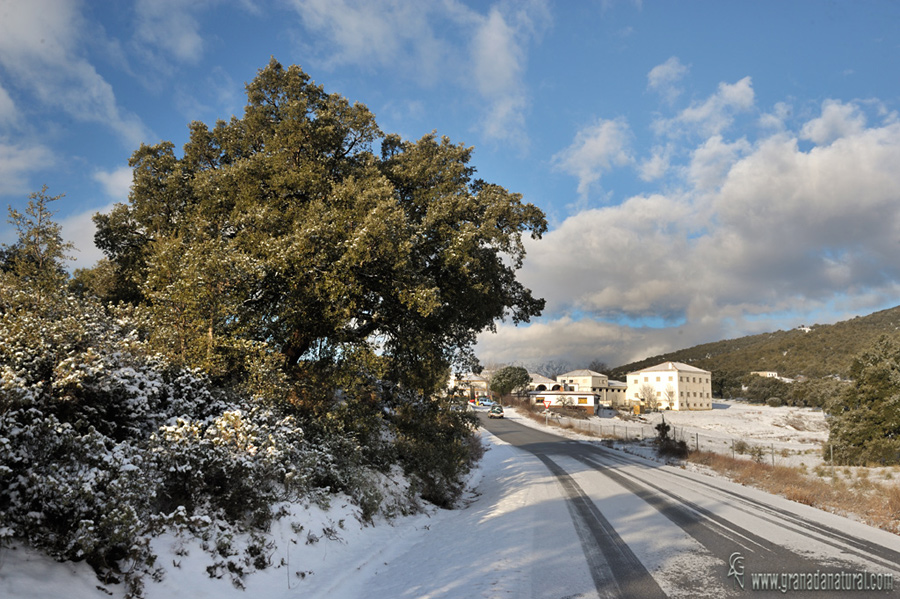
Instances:
[[[173,530],[240,586],[297,505],[341,497],[363,522],[453,506],[481,446],[438,390],[479,332],[543,306],[515,278],[543,213],[473,180],[470,155],[384,135],[272,60],[243,119],[192,124],[180,158],[134,153],[94,268],[65,270],[60,196],[11,210],[0,545],[138,596]]]

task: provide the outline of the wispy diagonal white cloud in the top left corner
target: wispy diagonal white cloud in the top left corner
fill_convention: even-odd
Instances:
[[[0,65],[48,107],[110,127],[134,146],[146,139],[140,120],[122,111],[109,83],[82,57],[88,26],[66,0],[11,3],[0,19]]]

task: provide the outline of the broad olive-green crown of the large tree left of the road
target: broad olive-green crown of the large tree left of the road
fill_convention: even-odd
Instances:
[[[384,134],[274,59],[247,100],[191,123],[181,157],[141,146],[129,202],[95,217],[112,299],[149,306],[171,353],[227,374],[248,343],[289,370],[363,351],[427,393],[498,319],[541,312],[516,272],[544,215],[476,179],[472,148]]]

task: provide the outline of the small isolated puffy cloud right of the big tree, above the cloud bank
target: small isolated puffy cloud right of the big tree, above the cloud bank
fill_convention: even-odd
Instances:
[[[633,161],[630,144],[631,130],[624,119],[598,119],[552,160],[556,168],[578,178],[578,193],[584,197],[605,172]]]

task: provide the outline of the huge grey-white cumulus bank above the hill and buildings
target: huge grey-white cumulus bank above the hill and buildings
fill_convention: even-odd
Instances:
[[[521,279],[547,299],[539,326],[501,325],[480,355],[502,362],[525,343],[622,364],[796,326],[798,313],[883,307],[900,290],[900,123],[863,114],[830,101],[793,133],[708,137],[684,189],[571,216],[528,245]]]

